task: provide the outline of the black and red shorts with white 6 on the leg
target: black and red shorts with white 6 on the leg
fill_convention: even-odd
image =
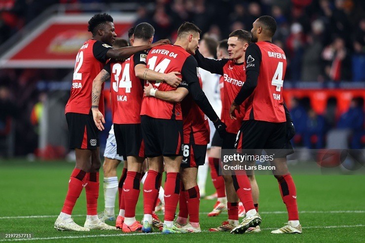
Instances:
[[[183,149],[182,168],[192,168],[204,165],[207,145],[185,143]]]

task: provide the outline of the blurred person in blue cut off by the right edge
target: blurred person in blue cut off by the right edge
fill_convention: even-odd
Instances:
[[[340,116],[337,128],[351,130],[352,138],[350,148],[362,148],[361,137],[364,135],[364,100],[355,98],[351,101],[349,110]]]

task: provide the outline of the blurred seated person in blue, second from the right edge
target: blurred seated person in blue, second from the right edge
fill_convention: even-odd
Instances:
[[[295,127],[296,128],[296,127]],[[306,148],[323,148],[325,134],[325,118],[318,115],[312,108],[308,110],[306,129],[303,142]]]

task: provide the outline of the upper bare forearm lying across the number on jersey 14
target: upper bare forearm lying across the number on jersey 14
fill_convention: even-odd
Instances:
[[[169,85],[177,88],[181,84],[181,73],[178,71],[173,71],[169,73],[162,73],[162,72],[156,72],[152,69],[147,69],[146,65],[138,64],[136,67],[134,67],[134,71],[136,73],[136,76],[145,79],[145,80],[162,80]]]

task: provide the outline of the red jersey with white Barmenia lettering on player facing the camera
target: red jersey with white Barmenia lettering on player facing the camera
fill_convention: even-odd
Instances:
[[[231,119],[229,116],[229,108],[236,98],[242,85],[246,81],[246,69],[244,63],[235,63],[233,60],[220,59],[214,60],[204,58],[199,51],[195,52],[195,59],[200,68],[208,70],[212,73],[222,75],[223,90],[220,92],[222,99],[221,120],[227,125],[228,133],[237,133],[241,127],[242,119],[245,114],[244,105],[240,106],[240,113],[236,111],[237,120]]]

